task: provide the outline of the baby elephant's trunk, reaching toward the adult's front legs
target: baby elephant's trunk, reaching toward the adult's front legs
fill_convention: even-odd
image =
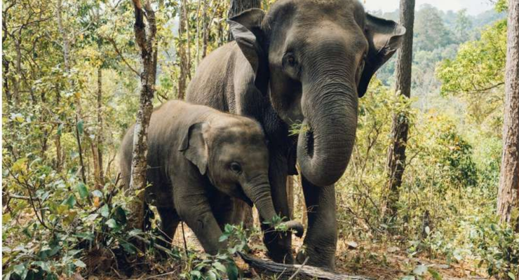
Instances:
[[[246,184],[243,184],[243,192],[254,202],[260,216],[264,221],[272,221],[276,216],[276,210],[272,203],[271,187],[267,175],[257,176]],[[302,237],[304,233],[303,225],[297,221],[284,222],[283,228],[294,230],[297,237]]]

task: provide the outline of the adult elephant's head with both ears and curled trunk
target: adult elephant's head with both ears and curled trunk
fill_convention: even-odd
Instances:
[[[405,28],[365,13],[357,0],[279,0],[267,14],[229,20],[255,73],[255,85],[288,125],[302,123],[297,160],[316,186],[335,183],[348,165],[358,97],[399,48]]]

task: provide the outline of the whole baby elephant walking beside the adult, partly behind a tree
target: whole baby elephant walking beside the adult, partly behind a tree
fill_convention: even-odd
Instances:
[[[269,184],[269,154],[260,124],[207,106],[170,101],[156,109],[148,132],[147,202],[173,238],[180,221],[194,231],[205,252],[219,242],[226,223],[243,220],[241,201],[255,204],[262,218],[276,214]],[[130,183],[133,127],[121,146],[121,174]],[[285,222],[299,237],[303,226]]]

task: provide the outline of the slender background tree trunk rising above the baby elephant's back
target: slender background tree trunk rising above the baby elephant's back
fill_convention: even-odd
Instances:
[[[187,20],[187,2],[182,0],[180,4],[180,16],[178,25],[178,57],[180,59],[180,76],[178,78],[178,92],[177,99],[184,99],[186,96],[186,83],[187,83],[187,54],[186,44],[184,43],[184,36],[186,33],[186,20]],[[189,48],[189,44],[187,45]]]

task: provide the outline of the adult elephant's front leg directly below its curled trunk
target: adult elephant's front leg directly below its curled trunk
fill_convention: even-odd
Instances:
[[[297,254],[297,262],[303,262],[308,256],[308,265],[333,270],[337,248],[335,186],[314,186],[304,176],[301,177],[308,214],[308,228],[304,237],[304,251],[299,251]]]

